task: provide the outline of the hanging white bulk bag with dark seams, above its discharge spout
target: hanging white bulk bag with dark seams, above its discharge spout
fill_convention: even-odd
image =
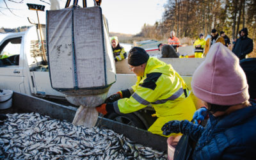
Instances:
[[[104,102],[116,71],[100,6],[47,11],[47,54],[52,88],[76,105]]]

